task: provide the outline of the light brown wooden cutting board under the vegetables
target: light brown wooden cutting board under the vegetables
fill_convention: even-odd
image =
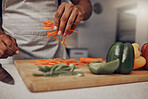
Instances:
[[[85,65],[81,65],[79,66],[80,69],[76,69],[76,71],[84,73],[83,77],[35,77],[32,76],[32,73],[38,72],[38,67],[30,63],[30,61],[32,60],[16,60],[14,63],[27,88],[32,92],[98,87],[148,81],[148,71],[146,70],[135,70],[128,75],[94,75],[90,73],[88,67]]]

